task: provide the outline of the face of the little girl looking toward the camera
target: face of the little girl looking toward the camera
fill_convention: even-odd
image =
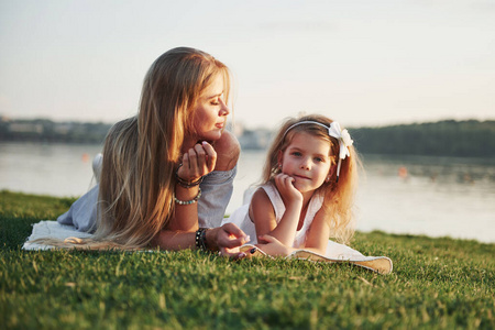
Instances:
[[[282,173],[292,176],[300,193],[321,187],[330,174],[330,144],[321,138],[298,132],[284,153],[279,153]]]

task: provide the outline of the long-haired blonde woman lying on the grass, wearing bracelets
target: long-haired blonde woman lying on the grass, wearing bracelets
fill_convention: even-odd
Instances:
[[[209,54],[179,47],[158,57],[138,116],[106,139],[99,194],[90,190],[58,222],[90,231],[96,221],[94,241],[107,246],[238,255],[229,249],[249,241],[238,227],[198,229],[220,224],[232,194],[240,146],[224,131],[229,89],[227,66]]]

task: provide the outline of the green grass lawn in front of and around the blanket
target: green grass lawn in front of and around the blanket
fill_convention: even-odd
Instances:
[[[305,261],[32,252],[73,199],[0,191],[2,329],[494,329],[495,244],[358,233],[392,275]]]

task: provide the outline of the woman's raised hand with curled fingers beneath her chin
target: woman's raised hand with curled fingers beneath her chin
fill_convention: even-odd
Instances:
[[[183,155],[183,164],[177,169],[179,178],[193,183],[215,169],[217,152],[213,146],[204,141],[196,144]]]

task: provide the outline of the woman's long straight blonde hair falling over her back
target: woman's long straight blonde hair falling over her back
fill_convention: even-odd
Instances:
[[[180,147],[197,134],[196,101],[218,75],[228,102],[230,73],[211,55],[178,47],[153,63],[138,116],[113,125],[105,142],[96,241],[143,248],[168,224]]]

